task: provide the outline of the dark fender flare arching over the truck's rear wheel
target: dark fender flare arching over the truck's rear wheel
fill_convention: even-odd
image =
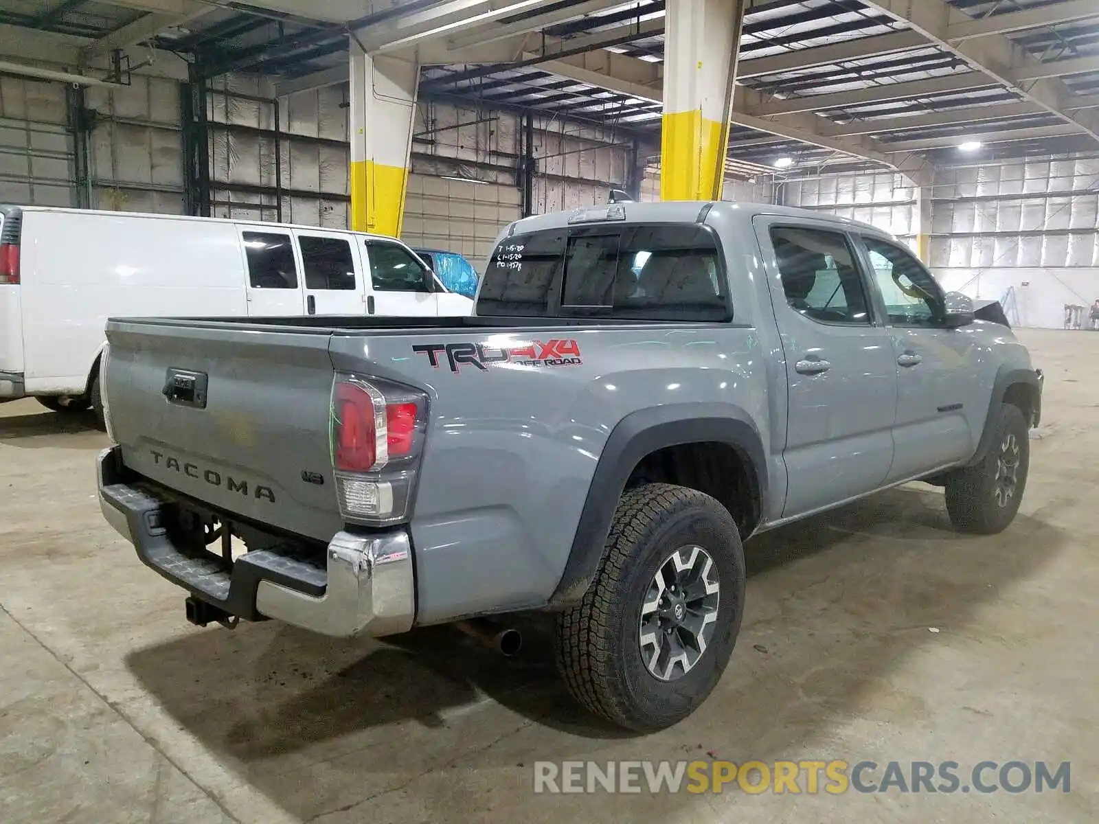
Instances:
[[[637,464],[657,449],[700,442],[724,443],[737,450],[747,464],[763,509],[767,495],[766,453],[747,412],[723,403],[674,404],[633,412],[611,431],[599,456],[565,570],[550,597],[551,606],[568,606],[584,597],[602,560],[619,499]]]

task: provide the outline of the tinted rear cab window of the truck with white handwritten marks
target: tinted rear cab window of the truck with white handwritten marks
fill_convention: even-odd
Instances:
[[[732,307],[709,229],[646,223],[504,238],[486,268],[477,314],[725,321]]]

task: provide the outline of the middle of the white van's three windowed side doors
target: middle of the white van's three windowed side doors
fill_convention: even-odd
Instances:
[[[366,313],[366,292],[353,235],[323,230],[295,230],[306,282],[307,314]]]

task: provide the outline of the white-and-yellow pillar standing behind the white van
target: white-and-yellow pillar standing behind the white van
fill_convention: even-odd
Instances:
[[[399,237],[420,67],[351,43],[351,227]]]

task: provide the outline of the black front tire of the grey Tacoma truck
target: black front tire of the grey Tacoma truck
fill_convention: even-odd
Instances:
[[[946,481],[946,511],[958,532],[995,535],[1014,520],[1026,488],[1030,467],[1030,427],[1019,407],[1004,403],[991,422],[992,445],[979,464],[957,469]],[[1011,445],[1018,446],[1015,483],[1004,501],[1000,486],[1001,461],[1013,460]]]

